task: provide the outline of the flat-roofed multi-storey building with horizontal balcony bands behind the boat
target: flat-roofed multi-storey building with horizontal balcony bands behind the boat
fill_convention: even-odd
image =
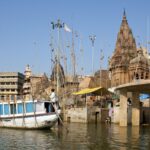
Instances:
[[[0,100],[16,100],[23,93],[24,75],[19,72],[0,72]]]

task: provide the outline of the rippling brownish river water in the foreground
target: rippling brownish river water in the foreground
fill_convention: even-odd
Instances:
[[[0,150],[150,150],[150,126],[69,123],[52,130],[0,128]]]

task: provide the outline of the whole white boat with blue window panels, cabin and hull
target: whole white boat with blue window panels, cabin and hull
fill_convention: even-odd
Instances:
[[[49,101],[0,102],[0,127],[22,129],[51,128],[57,122],[60,109],[52,109]],[[53,111],[52,111],[53,110]]]

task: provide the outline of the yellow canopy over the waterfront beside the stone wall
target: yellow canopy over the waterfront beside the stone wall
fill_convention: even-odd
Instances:
[[[100,95],[100,96],[110,94],[110,92],[103,87],[86,88],[86,89],[83,89],[81,91],[74,92],[72,94],[73,95],[84,95],[84,94],[90,94],[90,93],[93,93],[95,95]]]

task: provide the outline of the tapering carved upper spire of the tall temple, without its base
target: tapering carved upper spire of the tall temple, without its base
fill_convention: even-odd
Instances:
[[[114,55],[112,56],[113,65],[118,65],[121,63],[122,65],[127,65],[130,62],[130,59],[136,57],[136,43],[132,34],[132,30],[130,29],[127,19],[126,12],[123,12],[123,19],[120,26],[120,31],[117,35],[116,47],[114,51]]]

